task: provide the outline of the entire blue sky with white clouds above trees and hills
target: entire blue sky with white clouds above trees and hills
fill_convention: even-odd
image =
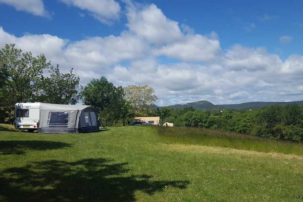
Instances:
[[[303,100],[303,1],[0,0],[0,48],[167,106]]]

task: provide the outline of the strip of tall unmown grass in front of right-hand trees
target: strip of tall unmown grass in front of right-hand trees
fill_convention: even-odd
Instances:
[[[303,144],[206,128],[155,127],[165,143],[218,146],[303,156]]]

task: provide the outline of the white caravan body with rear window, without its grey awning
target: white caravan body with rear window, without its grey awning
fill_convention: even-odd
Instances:
[[[17,103],[15,105],[15,128],[34,131],[39,128],[40,103]]]

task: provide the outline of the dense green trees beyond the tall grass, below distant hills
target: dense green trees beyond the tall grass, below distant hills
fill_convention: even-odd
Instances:
[[[303,107],[296,104],[260,110],[157,110],[162,122],[181,127],[220,129],[260,137],[303,142]]]

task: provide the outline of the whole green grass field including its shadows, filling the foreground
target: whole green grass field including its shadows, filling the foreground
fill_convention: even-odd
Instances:
[[[220,137],[221,131],[184,138],[176,128],[127,126],[87,134],[10,130],[0,124],[2,201],[303,200],[301,144],[223,132]],[[209,136],[199,138],[200,133]],[[249,146],[258,143],[265,146]]]

